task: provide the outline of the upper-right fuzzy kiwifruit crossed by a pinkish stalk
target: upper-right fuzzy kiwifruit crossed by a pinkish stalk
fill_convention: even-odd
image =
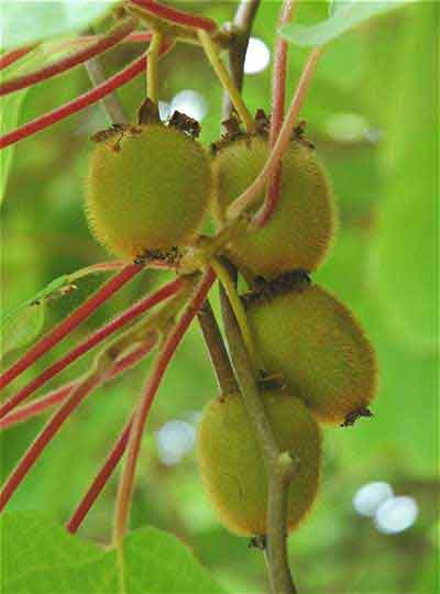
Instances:
[[[213,215],[223,224],[228,206],[256,178],[270,147],[260,136],[233,141],[212,162]],[[263,202],[262,193],[256,209]],[[323,261],[336,229],[327,175],[315,152],[292,142],[283,157],[279,202],[266,226],[230,244],[231,260],[267,279],[294,270],[314,271]]]

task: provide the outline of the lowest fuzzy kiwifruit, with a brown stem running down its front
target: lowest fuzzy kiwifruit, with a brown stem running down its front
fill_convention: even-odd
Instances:
[[[286,391],[262,393],[280,451],[295,458],[287,526],[293,530],[318,491],[321,439],[305,405]],[[197,432],[200,474],[220,521],[242,536],[266,534],[267,471],[240,394],[209,403]]]

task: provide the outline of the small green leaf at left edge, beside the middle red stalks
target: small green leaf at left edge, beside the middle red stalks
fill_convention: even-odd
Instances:
[[[44,324],[45,305],[48,299],[63,296],[75,288],[68,275],[59,276],[12,311],[0,311],[2,348],[0,359],[7,353],[25,346],[41,332]]]

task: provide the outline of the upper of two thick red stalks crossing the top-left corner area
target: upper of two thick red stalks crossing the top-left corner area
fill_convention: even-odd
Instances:
[[[110,50],[110,47],[113,47],[117,43],[127,37],[135,26],[136,19],[125,19],[122,23],[109,31],[109,33],[100,35],[97,41],[94,41],[90,45],[79,50],[75,54],[65,56],[48,66],[44,66],[43,68],[38,68],[37,70],[22,76],[16,76],[0,84],[0,97],[47,80],[48,78],[74,68],[95,56],[103,54]]]

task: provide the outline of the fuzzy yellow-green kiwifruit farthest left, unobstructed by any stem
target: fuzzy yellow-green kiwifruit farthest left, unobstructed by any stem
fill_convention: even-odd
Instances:
[[[190,241],[211,190],[201,145],[176,128],[148,124],[114,146],[114,136],[97,143],[91,158],[86,207],[98,241],[127,258]]]

